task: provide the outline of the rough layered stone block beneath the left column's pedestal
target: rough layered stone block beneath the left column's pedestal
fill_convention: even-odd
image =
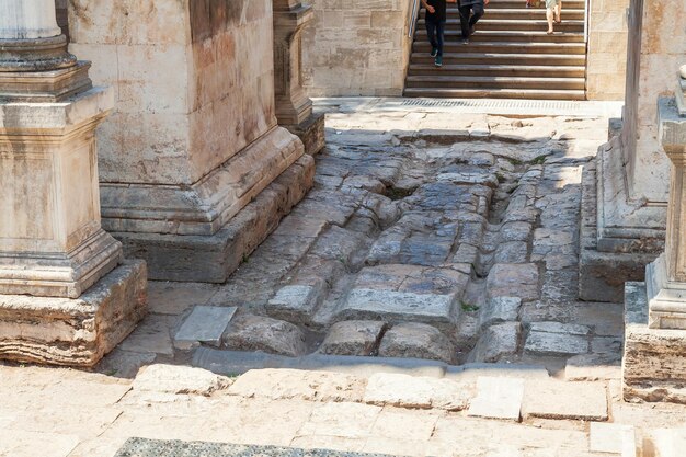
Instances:
[[[127,261],[81,297],[0,295],[0,358],[92,366],[147,312],[147,270]]]

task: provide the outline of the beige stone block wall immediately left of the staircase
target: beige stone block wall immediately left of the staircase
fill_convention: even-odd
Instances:
[[[411,0],[312,0],[302,35],[310,96],[401,95],[412,39]]]

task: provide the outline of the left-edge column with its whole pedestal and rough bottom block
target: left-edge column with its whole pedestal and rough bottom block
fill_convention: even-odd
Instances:
[[[0,1],[0,358],[90,366],[145,313],[146,273],[100,224],[113,92],[59,34],[53,0]]]

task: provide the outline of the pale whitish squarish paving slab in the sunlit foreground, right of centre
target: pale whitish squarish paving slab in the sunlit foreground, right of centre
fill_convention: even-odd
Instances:
[[[467,414],[518,421],[523,397],[524,379],[480,377]]]

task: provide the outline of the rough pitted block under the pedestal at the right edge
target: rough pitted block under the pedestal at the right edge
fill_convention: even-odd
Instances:
[[[627,283],[625,297],[624,399],[686,404],[686,331],[649,328],[644,283]]]

